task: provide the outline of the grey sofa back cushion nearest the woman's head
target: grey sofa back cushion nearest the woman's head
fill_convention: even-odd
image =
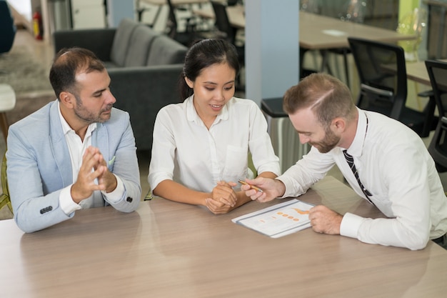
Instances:
[[[183,44],[161,34],[152,41],[146,65],[183,64],[187,50]]]

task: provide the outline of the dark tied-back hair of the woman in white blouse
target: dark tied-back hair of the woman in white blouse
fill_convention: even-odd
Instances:
[[[236,47],[224,39],[202,39],[191,46],[186,53],[183,74],[179,81],[182,99],[191,96],[194,91],[186,84],[185,77],[196,81],[201,71],[213,64],[228,64],[239,74],[239,61]]]

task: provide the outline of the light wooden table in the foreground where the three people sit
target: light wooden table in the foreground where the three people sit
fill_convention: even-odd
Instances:
[[[332,177],[301,199],[382,217]],[[271,239],[231,219],[154,199],[133,213],[111,207],[33,234],[0,222],[1,297],[445,297],[447,252],[364,244],[306,229]]]

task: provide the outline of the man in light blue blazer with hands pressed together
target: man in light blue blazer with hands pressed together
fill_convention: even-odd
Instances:
[[[16,224],[35,232],[78,209],[139,206],[141,186],[129,114],[112,108],[104,64],[89,50],[62,49],[50,71],[55,101],[12,124],[7,175]]]

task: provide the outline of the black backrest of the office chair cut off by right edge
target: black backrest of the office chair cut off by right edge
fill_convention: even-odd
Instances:
[[[426,60],[426,68],[439,117],[447,117],[447,62]]]

